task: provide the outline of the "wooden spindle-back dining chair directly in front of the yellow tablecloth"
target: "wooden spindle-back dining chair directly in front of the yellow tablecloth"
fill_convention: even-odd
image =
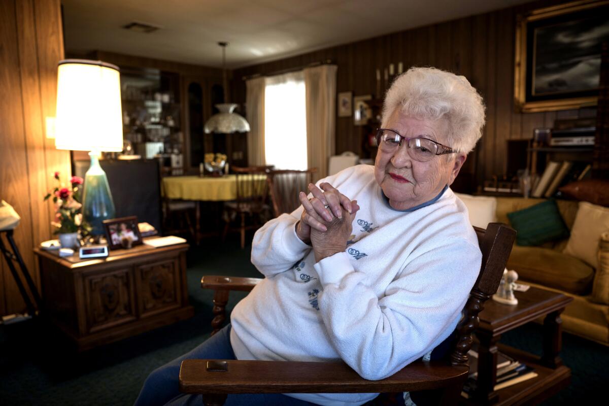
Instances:
[[[266,166],[233,166],[232,169],[236,175],[237,198],[234,201],[227,201],[224,205],[226,224],[222,240],[231,231],[231,222],[236,217],[240,217],[240,226],[232,229],[241,233],[241,248],[244,248],[245,231],[258,228],[267,217],[271,217],[268,204],[269,183],[267,182],[267,173],[270,169]],[[250,219],[249,224],[246,219]]]

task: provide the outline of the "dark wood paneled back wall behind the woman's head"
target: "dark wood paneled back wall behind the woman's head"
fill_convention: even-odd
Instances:
[[[233,100],[245,102],[245,83],[238,79],[240,77],[270,74],[328,59],[338,66],[337,93],[353,91],[353,96],[382,97],[382,94],[375,94],[376,69],[381,69],[382,80],[382,72],[390,63],[397,69],[402,62],[404,71],[410,66],[435,66],[465,75],[482,94],[487,106],[484,135],[462,169],[462,173],[473,175],[475,186],[492,175],[505,172],[508,139],[532,138],[533,128],[552,127],[556,118],[579,114],[579,111],[521,114],[515,113],[513,108],[516,16],[560,2],[519,5],[247,66],[233,72]],[[384,87],[381,93],[384,93]],[[350,150],[360,154],[364,136],[362,128],[353,125],[353,117],[337,117],[336,153]]]

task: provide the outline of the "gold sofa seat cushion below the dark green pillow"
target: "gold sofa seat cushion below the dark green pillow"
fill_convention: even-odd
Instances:
[[[590,292],[594,270],[577,258],[540,247],[512,248],[507,268],[518,272],[518,279],[560,289],[575,295]]]

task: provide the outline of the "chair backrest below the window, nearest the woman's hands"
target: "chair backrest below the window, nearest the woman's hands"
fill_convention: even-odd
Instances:
[[[298,194],[309,194],[309,183],[317,168],[307,170],[271,170],[269,172],[269,191],[273,201],[273,214],[291,213],[300,206]]]

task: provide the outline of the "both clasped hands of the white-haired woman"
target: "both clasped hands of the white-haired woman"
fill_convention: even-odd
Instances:
[[[298,198],[304,210],[296,226],[298,238],[313,246],[316,262],[345,251],[359,210],[356,200],[351,201],[331,184],[324,182],[319,186],[323,192],[309,184],[311,199],[300,192]]]

